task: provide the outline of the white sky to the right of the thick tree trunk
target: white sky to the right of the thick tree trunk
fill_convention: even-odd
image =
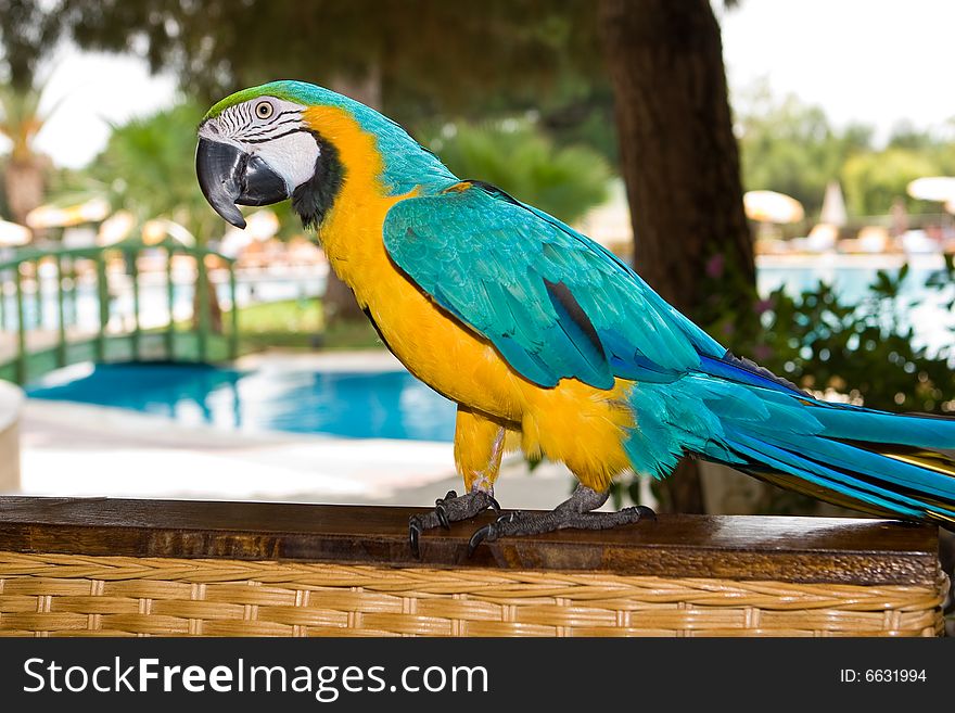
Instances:
[[[742,0],[718,14],[731,88],[766,77],[775,94],[883,139],[903,119],[938,128],[955,117],[952,0]]]

